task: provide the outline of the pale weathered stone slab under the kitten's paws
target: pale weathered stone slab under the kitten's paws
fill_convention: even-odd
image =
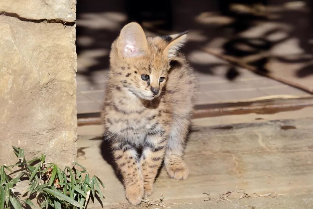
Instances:
[[[186,149],[189,178],[171,179],[163,168],[149,199],[158,202],[164,196],[162,204],[189,209],[313,208],[313,118],[306,118],[312,111],[307,107],[272,115],[193,120]],[[103,180],[105,208],[146,208],[147,203],[127,204],[110,153],[101,144],[101,126],[81,126],[78,134],[78,162]],[[239,189],[270,195],[239,200],[243,194],[236,192]],[[227,191],[233,191],[231,202],[218,202],[219,194]],[[208,200],[204,192],[210,193],[210,201],[204,201]],[[89,207],[100,208],[100,204]]]

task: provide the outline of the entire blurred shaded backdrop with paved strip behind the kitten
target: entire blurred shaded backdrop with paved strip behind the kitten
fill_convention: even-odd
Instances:
[[[197,105],[313,92],[310,0],[86,1],[77,5],[78,113],[99,112],[120,29],[190,30],[182,49],[199,78]]]

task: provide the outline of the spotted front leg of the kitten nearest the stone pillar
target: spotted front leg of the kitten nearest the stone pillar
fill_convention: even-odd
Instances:
[[[144,196],[144,190],[136,150],[121,142],[113,143],[111,147],[117,167],[123,176],[126,198],[131,204],[138,205]]]

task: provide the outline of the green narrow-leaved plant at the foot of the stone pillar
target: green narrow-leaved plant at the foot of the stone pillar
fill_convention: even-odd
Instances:
[[[18,163],[0,167],[0,209],[30,208],[86,208],[90,198],[101,201],[105,188],[97,176],[90,176],[86,168],[74,162],[80,170],[65,167],[60,169],[53,163],[46,162],[46,155],[26,160],[24,150],[14,147]],[[13,168],[18,167],[18,170]],[[12,169],[12,170],[11,170]],[[8,173],[7,173],[8,172]],[[26,180],[28,187],[16,194],[16,185]],[[34,204],[35,200],[37,204]]]

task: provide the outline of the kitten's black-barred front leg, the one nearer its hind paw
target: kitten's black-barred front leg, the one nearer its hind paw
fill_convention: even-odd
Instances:
[[[164,157],[167,137],[148,135],[141,155],[141,170],[144,179],[145,196],[152,194],[153,182]]]

